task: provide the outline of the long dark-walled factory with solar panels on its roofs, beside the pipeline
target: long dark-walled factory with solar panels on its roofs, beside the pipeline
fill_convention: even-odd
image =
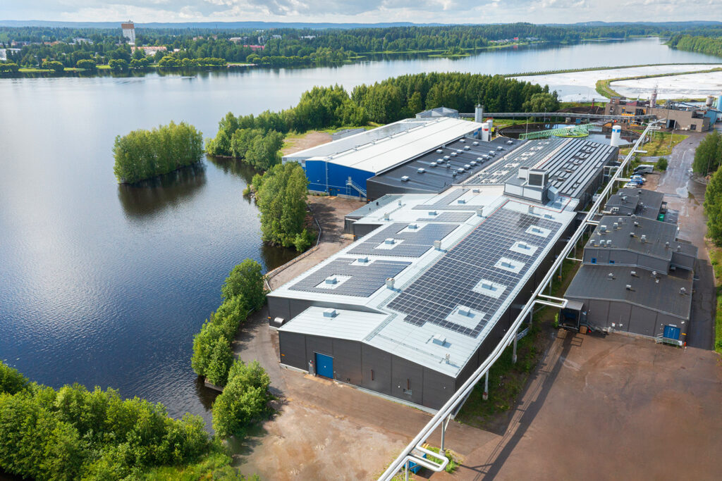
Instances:
[[[497,140],[493,155],[463,140],[412,159],[407,180],[383,172],[392,193],[349,216],[359,239],[269,294],[284,366],[440,407],[508,330],[617,157],[583,139]],[[476,174],[424,187],[467,155],[483,159]],[[393,177],[424,193],[394,194]]]

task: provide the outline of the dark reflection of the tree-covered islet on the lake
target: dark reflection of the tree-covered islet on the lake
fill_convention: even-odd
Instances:
[[[133,185],[118,185],[118,199],[126,215],[144,217],[191,198],[206,185],[206,167],[193,164]]]

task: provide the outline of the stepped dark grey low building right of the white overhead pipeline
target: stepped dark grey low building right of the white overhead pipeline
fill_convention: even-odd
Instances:
[[[622,189],[609,199],[567,288],[560,325],[684,344],[697,247],[677,238],[662,197]]]

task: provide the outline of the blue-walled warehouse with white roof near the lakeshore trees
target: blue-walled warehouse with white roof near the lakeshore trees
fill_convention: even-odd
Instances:
[[[481,131],[482,124],[455,118],[405,119],[289,154],[283,162],[303,166],[312,193],[373,199],[367,193],[371,177]]]

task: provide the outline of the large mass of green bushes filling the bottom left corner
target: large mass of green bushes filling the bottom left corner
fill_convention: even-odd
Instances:
[[[57,391],[24,384],[17,371],[0,394],[0,469],[36,480],[122,479],[147,469],[196,462],[208,454],[204,421],[173,420],[160,404],[122,400],[113,389],[78,384]]]

